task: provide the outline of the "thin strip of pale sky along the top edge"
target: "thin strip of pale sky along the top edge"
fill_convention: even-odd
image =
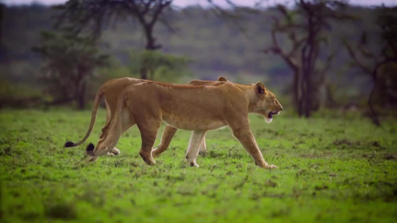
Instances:
[[[0,0],[0,2],[4,2],[5,4],[30,4],[32,2],[40,2],[44,5],[52,5],[52,4],[60,4],[66,2],[66,0]],[[225,0],[213,0],[213,2],[226,5]],[[233,0],[236,4],[244,5],[244,6],[253,6],[255,2],[258,0]],[[266,6],[266,0],[263,1]],[[268,4],[272,5],[278,2],[285,2],[285,0],[267,0]],[[384,3],[385,5],[397,5],[397,0],[350,0],[351,4],[359,4],[365,6],[374,6],[380,5]],[[206,5],[206,0],[173,0],[173,4],[176,6],[188,6],[192,4],[202,4]],[[207,3],[208,4],[208,3]]]

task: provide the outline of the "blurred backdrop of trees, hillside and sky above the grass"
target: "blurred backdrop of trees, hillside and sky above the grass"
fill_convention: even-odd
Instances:
[[[4,0],[0,107],[91,109],[107,80],[262,82],[288,115],[397,105],[395,0]],[[284,112],[284,111],[283,111]]]

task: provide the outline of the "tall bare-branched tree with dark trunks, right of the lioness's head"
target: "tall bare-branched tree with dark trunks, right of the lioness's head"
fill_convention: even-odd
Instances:
[[[293,10],[278,5],[277,15],[272,16],[272,46],[263,52],[280,56],[292,69],[293,103],[299,116],[309,117],[318,108],[318,90],[336,53],[328,47],[326,32],[332,20],[352,19],[340,10],[345,6],[341,0],[296,0]],[[281,46],[278,35],[286,37],[289,44],[283,46],[291,45],[289,49]]]

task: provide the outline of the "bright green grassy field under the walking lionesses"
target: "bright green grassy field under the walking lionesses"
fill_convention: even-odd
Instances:
[[[185,163],[190,132],[146,165],[137,127],[119,156],[82,162],[96,144],[104,110],[87,142],[90,111],[0,112],[0,221],[80,222],[395,222],[397,120],[382,128],[349,117],[278,115],[251,129],[269,164],[260,169],[230,129],[210,131],[199,168]],[[164,127],[162,127],[163,129]],[[162,134],[162,129],[159,136]],[[158,144],[156,141],[155,146]]]

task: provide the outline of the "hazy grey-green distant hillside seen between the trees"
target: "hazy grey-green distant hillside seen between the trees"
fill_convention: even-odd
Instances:
[[[40,65],[40,58],[30,50],[39,41],[39,33],[54,23],[54,10],[40,5],[6,7],[1,21],[1,74],[12,80],[32,78]],[[260,52],[270,46],[268,30],[271,25],[270,10],[251,15],[235,23],[214,15],[211,10],[200,7],[184,8],[172,12],[175,32],[162,25],[156,28],[158,43],[162,51],[187,55],[194,60],[191,69],[197,78],[214,79],[225,75],[232,79],[254,76],[257,80],[271,80],[274,83],[289,82],[289,68],[278,56],[266,56]],[[364,18],[363,27],[372,26],[372,12],[365,8],[351,8],[351,13]],[[240,26],[245,29],[241,32]],[[332,48],[340,47],[339,38],[358,37],[357,25],[343,22],[333,25],[328,33]],[[284,44],[286,47],[287,43]],[[109,28],[102,37],[103,50],[116,56],[123,65],[128,65],[129,54],[141,50],[144,38],[138,24],[124,22]],[[337,77],[339,68],[349,60],[344,50],[338,51],[331,79]],[[355,71],[344,69],[348,77]],[[259,78],[258,78],[259,77]],[[344,78],[344,77],[342,77]]]

